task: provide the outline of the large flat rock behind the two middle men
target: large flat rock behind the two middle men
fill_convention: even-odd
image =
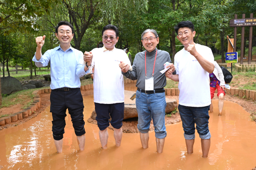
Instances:
[[[176,99],[168,99],[166,98],[166,108],[165,112],[170,113],[174,111],[175,108],[178,107],[178,103]],[[136,92],[124,90],[124,119],[129,119],[133,117],[138,117],[137,109],[136,109]],[[96,112],[92,111],[91,118],[95,120]]]

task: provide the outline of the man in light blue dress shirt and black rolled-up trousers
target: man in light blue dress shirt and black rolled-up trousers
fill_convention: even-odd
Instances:
[[[64,127],[66,125],[66,109],[71,116],[74,131],[80,150],[84,150],[84,104],[80,91],[80,77],[90,72],[91,61],[85,66],[84,54],[70,46],[74,36],[74,28],[67,21],[60,21],[55,28],[55,35],[60,45],[42,55],[45,35],[36,37],[36,53],[32,61],[37,67],[51,66],[50,112],[52,112],[52,135],[58,153],[62,152]],[[89,66],[88,66],[89,65]]]

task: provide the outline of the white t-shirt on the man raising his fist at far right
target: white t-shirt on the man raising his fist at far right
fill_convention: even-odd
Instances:
[[[214,63],[212,50],[196,44],[196,51],[204,59]],[[211,104],[209,73],[196,58],[184,48],[175,55],[174,66],[179,76],[179,104],[191,107],[204,107]]]

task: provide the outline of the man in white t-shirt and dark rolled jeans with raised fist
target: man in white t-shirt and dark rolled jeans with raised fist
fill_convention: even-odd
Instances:
[[[176,53],[176,74],[169,69],[166,77],[179,82],[179,106],[188,154],[193,153],[195,129],[199,133],[202,157],[208,157],[211,134],[208,128],[211,104],[209,73],[214,70],[214,57],[210,48],[193,41],[196,31],[191,21],[182,21],[174,27],[184,48]],[[195,128],[196,123],[196,128]]]

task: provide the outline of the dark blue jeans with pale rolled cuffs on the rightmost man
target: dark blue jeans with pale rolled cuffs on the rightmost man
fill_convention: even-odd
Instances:
[[[201,139],[211,138],[211,133],[208,128],[208,120],[210,118],[208,111],[210,105],[204,107],[190,107],[179,104],[178,109],[182,120],[185,139],[195,139],[195,129]]]

